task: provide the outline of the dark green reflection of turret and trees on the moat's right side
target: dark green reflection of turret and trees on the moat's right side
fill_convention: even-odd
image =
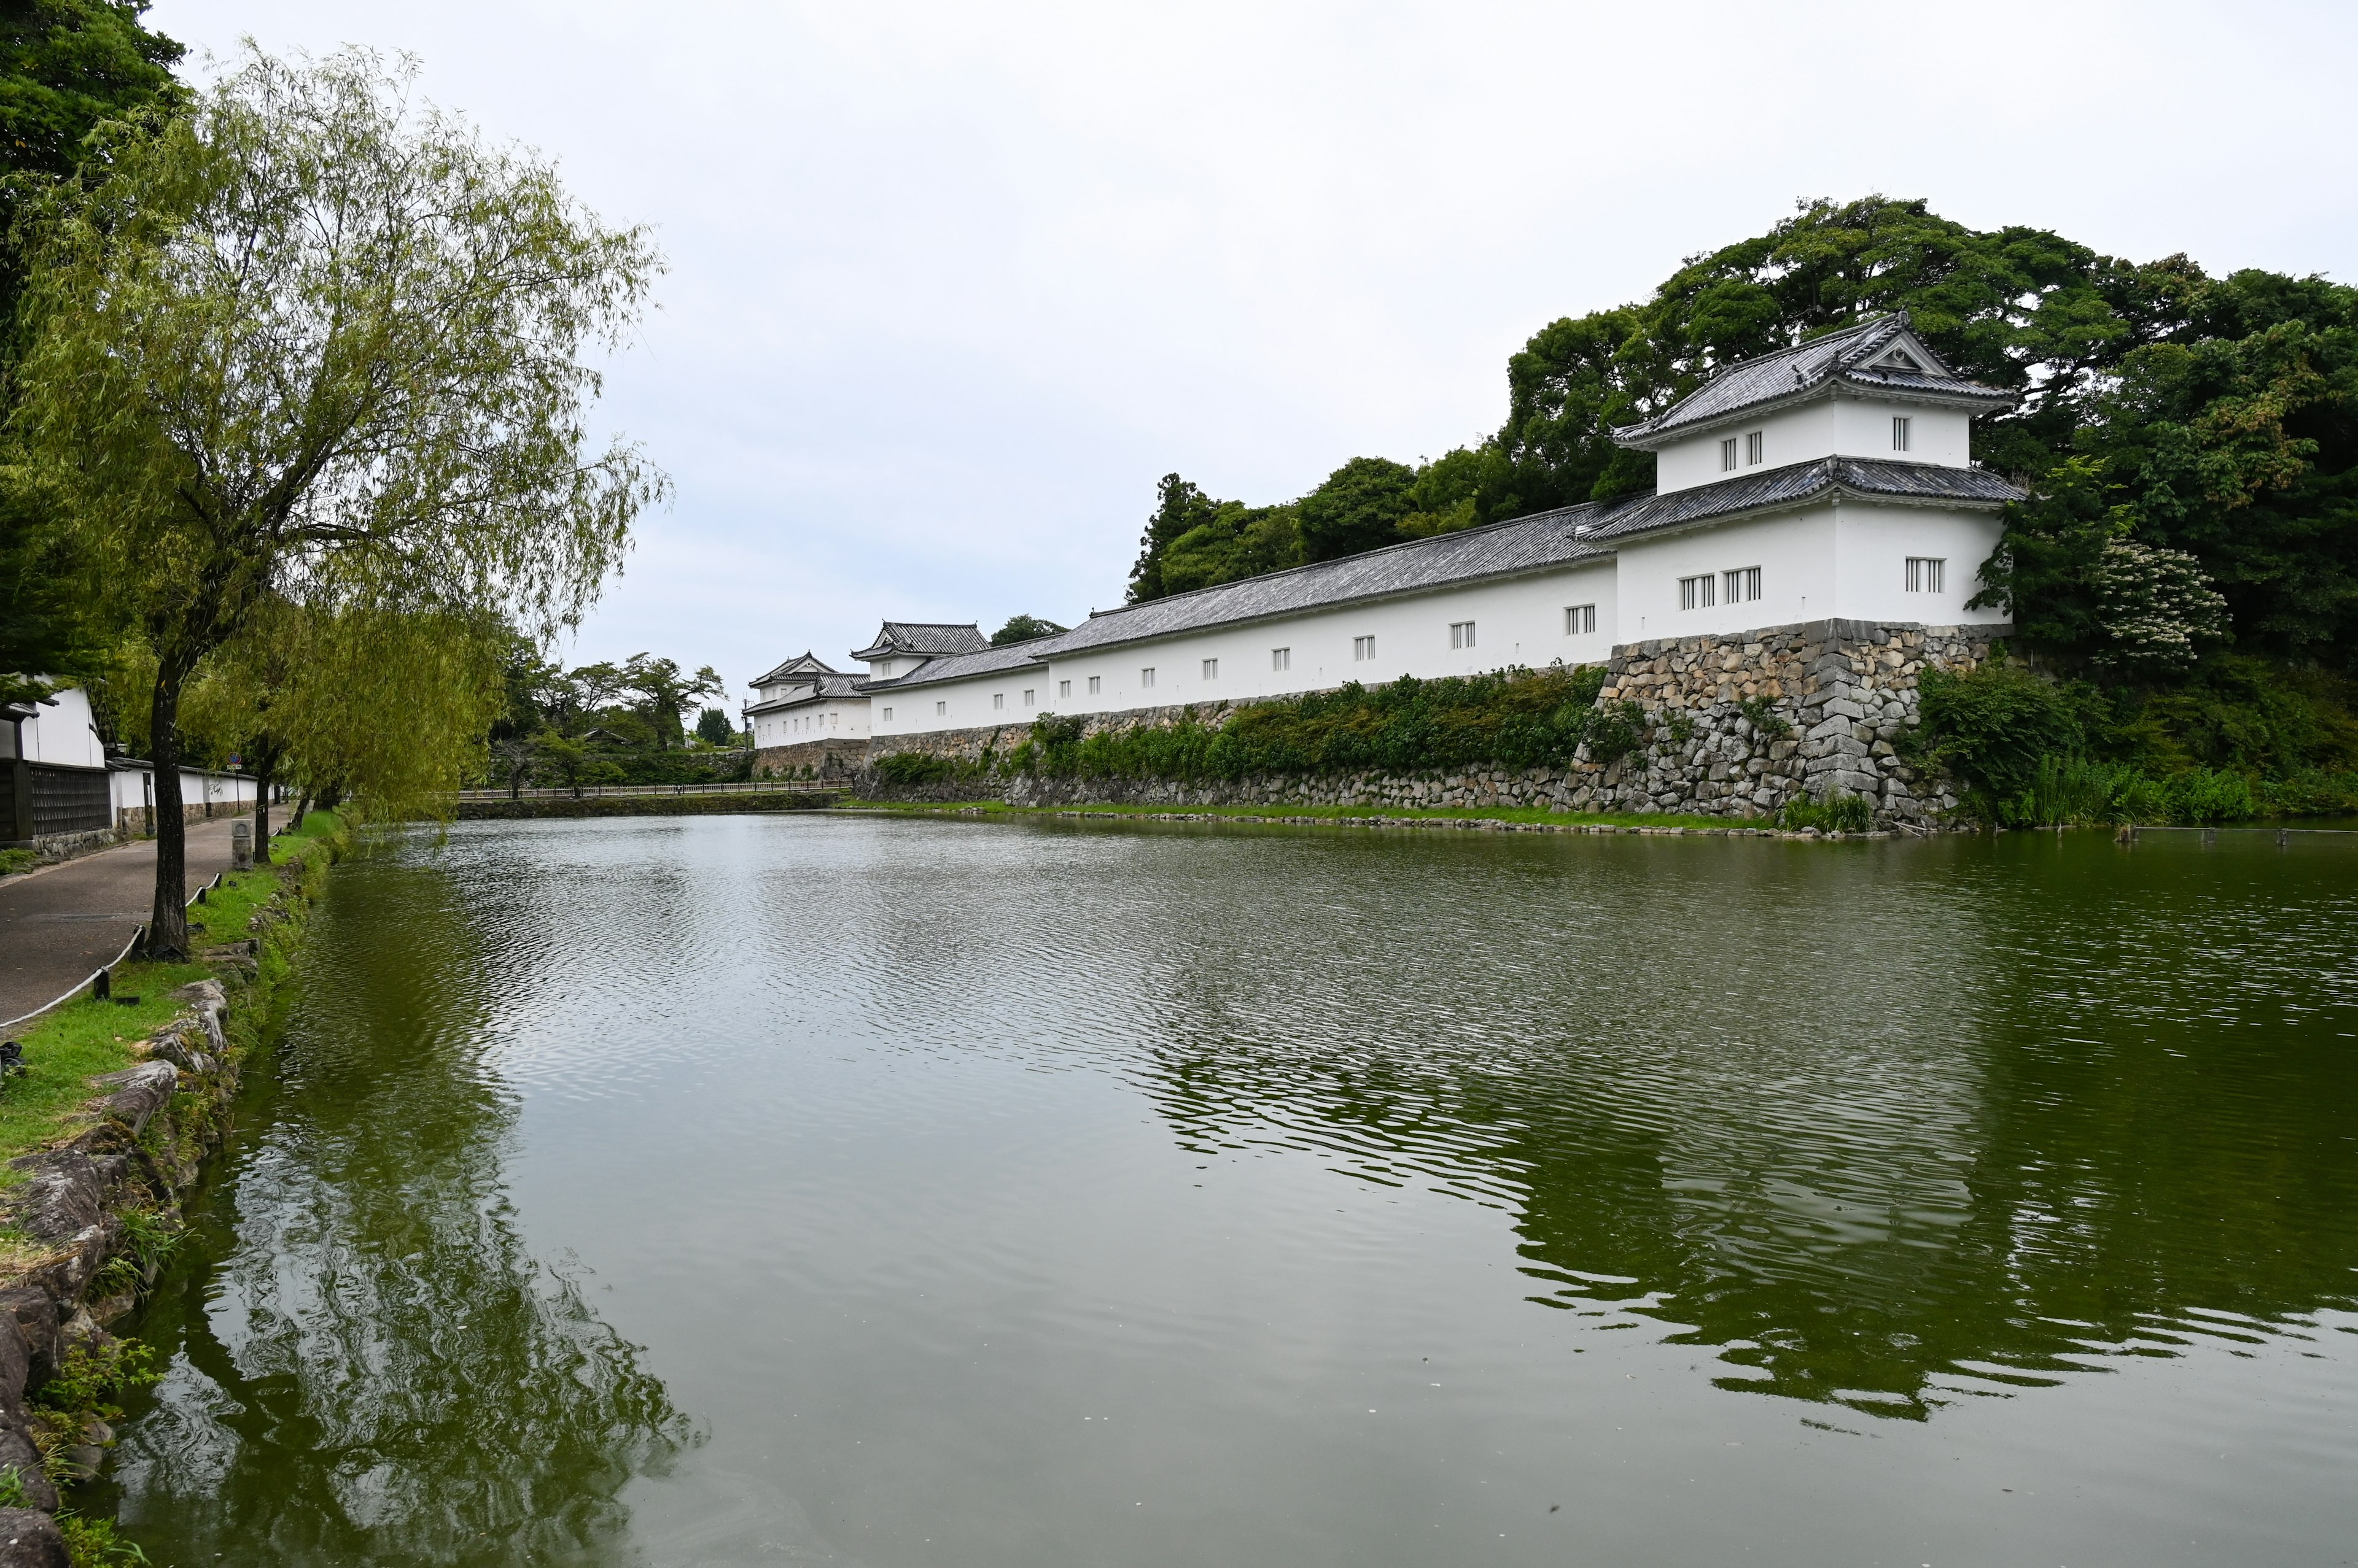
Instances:
[[[1585,846],[1578,905],[1460,875],[1478,943],[1306,929],[1283,969],[1188,967],[1146,1087],[1198,1153],[1507,1207],[1533,1302],[1672,1325],[1724,1389],[1924,1419],[2308,1332],[2358,1306],[2344,858],[2259,865],[2261,898],[2082,837],[1948,884],[1714,851],[1698,887],[1660,844]],[[1219,915],[1172,924],[1200,943]]]

